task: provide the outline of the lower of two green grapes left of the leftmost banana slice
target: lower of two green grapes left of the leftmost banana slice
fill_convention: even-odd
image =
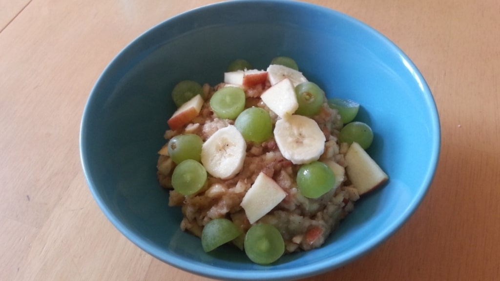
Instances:
[[[205,182],[205,167],[193,159],[184,160],[173,169],[173,189],[182,195],[196,193],[205,185]]]

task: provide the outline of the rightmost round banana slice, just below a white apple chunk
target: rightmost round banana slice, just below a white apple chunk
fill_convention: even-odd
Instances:
[[[294,164],[319,159],[326,141],[316,121],[302,115],[278,119],[274,126],[274,139],[283,157]]]

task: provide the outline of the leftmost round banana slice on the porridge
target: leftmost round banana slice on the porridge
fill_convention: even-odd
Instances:
[[[201,163],[209,174],[221,179],[236,175],[245,155],[246,142],[233,125],[217,130],[201,146]]]

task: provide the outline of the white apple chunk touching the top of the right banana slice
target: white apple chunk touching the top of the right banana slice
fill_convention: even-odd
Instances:
[[[262,101],[269,109],[281,118],[286,118],[293,114],[298,108],[295,89],[288,78],[284,78],[266,89],[260,95],[260,98],[262,98]]]

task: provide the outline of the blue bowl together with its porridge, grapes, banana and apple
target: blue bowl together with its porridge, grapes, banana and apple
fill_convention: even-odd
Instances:
[[[439,141],[432,94],[389,39],[321,6],[248,0],[120,51],[88,98],[80,154],[98,206],[147,253],[211,278],[289,280],[390,237]]]

